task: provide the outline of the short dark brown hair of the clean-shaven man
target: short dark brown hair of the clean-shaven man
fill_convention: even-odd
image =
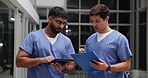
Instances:
[[[90,10],[90,16],[99,15],[103,20],[110,15],[109,8],[104,4],[97,4]]]

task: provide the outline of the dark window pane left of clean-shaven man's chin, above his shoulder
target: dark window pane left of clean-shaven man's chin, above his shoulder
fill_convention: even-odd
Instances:
[[[93,26],[81,26],[81,45],[85,45],[87,38],[94,32]]]

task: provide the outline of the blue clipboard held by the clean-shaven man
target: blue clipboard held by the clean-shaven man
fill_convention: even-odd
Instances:
[[[77,54],[71,54],[74,61],[85,71],[85,72],[91,72],[91,71],[99,71],[95,68],[93,68],[89,62],[95,60],[99,60],[99,58],[96,56],[95,52],[86,52],[86,53],[77,53]]]

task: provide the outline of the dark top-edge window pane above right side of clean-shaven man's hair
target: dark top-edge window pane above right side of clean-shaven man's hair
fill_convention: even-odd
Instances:
[[[117,0],[100,0],[100,3],[107,5],[111,10],[117,9]]]

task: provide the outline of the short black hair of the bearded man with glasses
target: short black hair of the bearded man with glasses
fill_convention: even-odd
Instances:
[[[61,7],[53,7],[49,11],[48,17],[53,16],[53,17],[62,17],[63,19],[67,19],[67,12],[61,8]]]

